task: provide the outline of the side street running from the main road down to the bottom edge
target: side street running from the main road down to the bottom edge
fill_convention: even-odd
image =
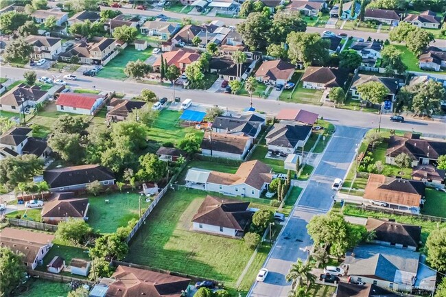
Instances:
[[[331,208],[331,196],[336,193],[331,184],[335,178],[347,175],[355,156],[355,144],[360,143],[366,131],[364,128],[336,127],[333,139],[268,255],[264,264],[269,271],[266,280],[256,282],[248,296],[288,296],[291,286],[285,281],[285,275],[297,259],[307,259],[307,250],[313,244],[306,226],[314,215],[327,213]]]

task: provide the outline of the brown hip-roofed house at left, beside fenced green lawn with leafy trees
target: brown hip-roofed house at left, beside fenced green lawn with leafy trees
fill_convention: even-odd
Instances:
[[[88,219],[89,198],[75,198],[73,192],[54,193],[43,204],[42,219],[47,224],[58,224],[67,219]]]

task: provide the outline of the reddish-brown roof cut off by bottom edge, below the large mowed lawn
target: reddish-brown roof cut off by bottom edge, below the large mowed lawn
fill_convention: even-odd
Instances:
[[[112,278],[116,281],[108,287],[106,297],[180,297],[191,281],[189,278],[122,265],[117,267]]]

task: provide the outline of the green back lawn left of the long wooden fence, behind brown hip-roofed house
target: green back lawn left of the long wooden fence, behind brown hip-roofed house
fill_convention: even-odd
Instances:
[[[113,233],[118,227],[127,226],[130,219],[138,219],[138,193],[111,193],[97,197],[89,197],[89,225],[100,233]],[[105,200],[109,200],[106,203]],[[141,199],[141,213],[150,203]]]

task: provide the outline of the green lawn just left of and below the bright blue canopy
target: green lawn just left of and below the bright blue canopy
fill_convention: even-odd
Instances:
[[[149,129],[148,138],[159,143],[178,143],[187,133],[196,133],[202,137],[203,132],[191,127],[179,126],[181,112],[163,110]]]

